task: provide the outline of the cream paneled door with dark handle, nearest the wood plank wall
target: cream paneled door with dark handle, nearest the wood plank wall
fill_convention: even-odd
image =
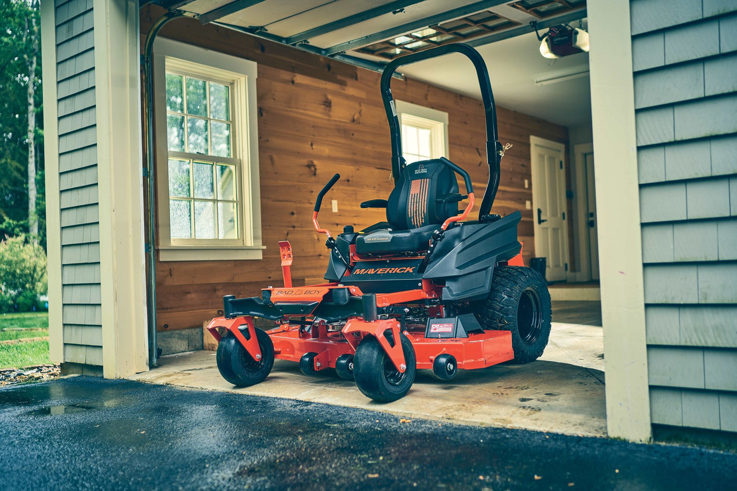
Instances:
[[[546,257],[546,279],[566,279],[565,145],[530,137],[535,256]]]

